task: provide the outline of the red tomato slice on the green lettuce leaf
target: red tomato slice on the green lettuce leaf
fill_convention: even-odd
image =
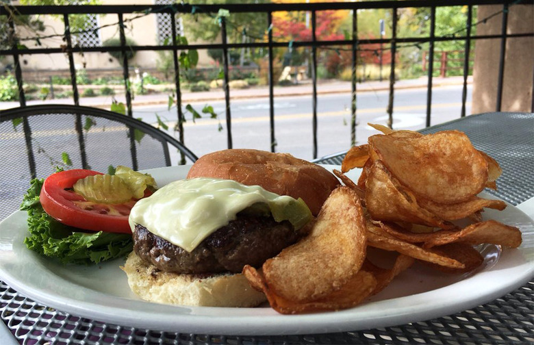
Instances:
[[[91,231],[131,233],[128,216],[136,200],[121,204],[102,204],[86,201],[71,188],[79,179],[101,172],[73,169],[56,172],[44,180],[39,200],[51,217],[64,225]]]

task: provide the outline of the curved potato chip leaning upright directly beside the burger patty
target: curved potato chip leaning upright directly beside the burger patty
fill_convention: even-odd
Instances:
[[[339,289],[366,257],[366,225],[357,194],[333,190],[306,238],[262,266],[266,283],[289,301],[314,301]],[[306,277],[306,279],[302,279]]]

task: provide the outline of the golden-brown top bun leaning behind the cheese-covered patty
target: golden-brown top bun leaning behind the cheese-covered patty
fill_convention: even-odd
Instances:
[[[316,216],[340,182],[328,170],[288,153],[253,149],[227,149],[200,157],[188,179],[232,179],[247,186],[262,186],[269,192],[302,198]]]

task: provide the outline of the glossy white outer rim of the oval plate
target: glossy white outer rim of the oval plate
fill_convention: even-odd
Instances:
[[[175,179],[175,176],[183,175],[188,168],[173,166],[149,171],[163,185]],[[520,228],[523,231],[523,244],[520,249],[505,249],[489,270],[483,270],[444,288],[328,313],[288,316],[277,314],[270,308],[157,305],[94,290],[88,291],[87,298],[83,301],[72,296],[58,296],[54,291],[42,290],[35,284],[28,285],[24,277],[21,277],[20,269],[9,266],[13,261],[4,259],[14,255],[10,243],[14,235],[5,233],[3,228],[10,222],[25,219],[25,213],[20,211],[0,223],[0,277],[14,290],[49,307],[101,322],[141,329],[217,335],[288,335],[390,327],[446,316],[487,303],[516,290],[534,276],[534,254],[530,255],[530,252],[534,253],[533,220],[516,207],[509,205],[507,209],[511,209],[522,220]],[[518,260],[522,262],[518,264]],[[506,279],[502,279],[503,276]],[[488,283],[489,281],[492,283]],[[72,283],[67,281],[66,284]],[[473,292],[473,286],[476,286],[476,292]],[[73,288],[75,287],[73,284]],[[451,301],[444,296],[455,296],[455,299]]]

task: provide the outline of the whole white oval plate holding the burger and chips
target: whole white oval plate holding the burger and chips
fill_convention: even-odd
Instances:
[[[328,166],[332,168],[332,166]],[[159,186],[185,177],[187,166],[149,170]],[[357,174],[357,172],[355,172]],[[217,308],[159,305],[140,301],[118,259],[99,266],[62,266],[29,251],[25,212],[0,223],[0,277],[44,305],[103,322],[142,329],[218,335],[283,335],[357,331],[446,316],[507,294],[534,274],[533,220],[509,205],[488,209],[485,218],[519,227],[518,249],[481,248],[485,264],[470,274],[441,274],[414,266],[366,303],[353,309],[281,315],[269,307]]]

